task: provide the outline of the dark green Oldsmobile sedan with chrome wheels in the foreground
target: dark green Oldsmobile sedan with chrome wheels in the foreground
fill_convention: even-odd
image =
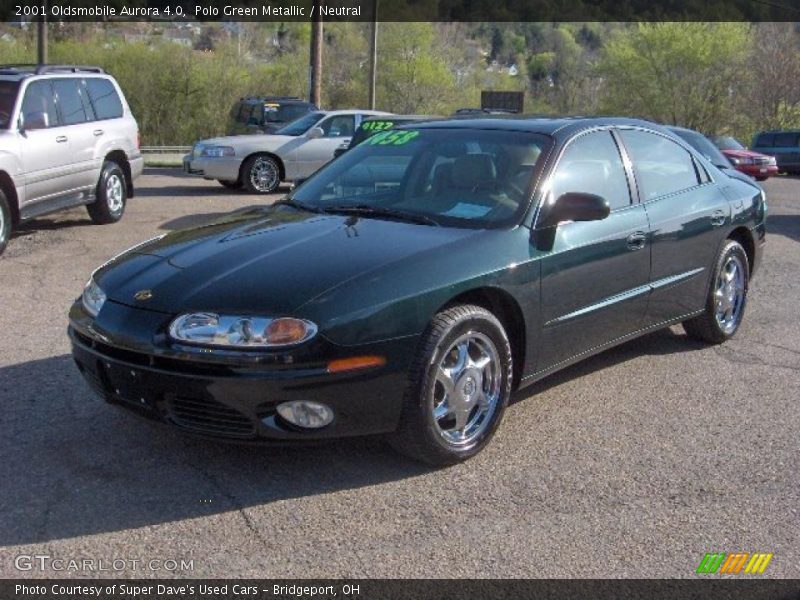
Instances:
[[[734,335],[765,219],[760,188],[646,121],[415,124],[116,257],[73,351],[109,402],[187,431],[385,433],[448,464],[516,387],[669,324]]]

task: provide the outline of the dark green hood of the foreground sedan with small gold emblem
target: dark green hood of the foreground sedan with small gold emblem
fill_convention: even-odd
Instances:
[[[280,316],[372,270],[477,233],[263,208],[134,248],[95,279],[110,300],[137,308]],[[151,297],[136,300],[142,290]]]

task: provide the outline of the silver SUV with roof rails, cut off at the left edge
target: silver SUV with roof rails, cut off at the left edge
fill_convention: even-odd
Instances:
[[[102,69],[0,66],[0,253],[19,223],[73,206],[119,221],[143,166],[136,120]]]

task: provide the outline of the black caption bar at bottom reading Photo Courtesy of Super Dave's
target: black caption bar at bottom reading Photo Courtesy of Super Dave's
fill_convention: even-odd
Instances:
[[[798,580],[3,580],[3,600],[800,600]]]

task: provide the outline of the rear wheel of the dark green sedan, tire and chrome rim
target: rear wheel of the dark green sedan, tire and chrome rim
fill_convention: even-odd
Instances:
[[[721,344],[732,338],[744,318],[750,263],[736,240],[727,240],[720,250],[703,312],[683,322],[689,337]]]

